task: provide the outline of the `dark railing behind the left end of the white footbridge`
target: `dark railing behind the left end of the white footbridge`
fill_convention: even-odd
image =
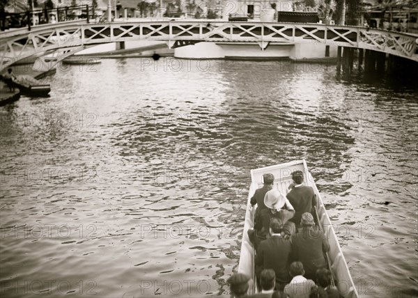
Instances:
[[[54,24],[75,19],[87,19],[88,22],[91,14],[88,5],[28,10],[24,13],[1,13],[0,30],[5,31],[27,27],[30,31],[33,25]]]

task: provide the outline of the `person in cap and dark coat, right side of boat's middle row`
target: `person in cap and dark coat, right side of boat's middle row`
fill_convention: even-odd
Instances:
[[[330,250],[330,244],[318,228],[314,228],[314,217],[309,212],[302,214],[300,221],[302,232],[292,236],[292,260],[302,262],[305,277],[314,279],[317,269],[327,266],[324,253]]]

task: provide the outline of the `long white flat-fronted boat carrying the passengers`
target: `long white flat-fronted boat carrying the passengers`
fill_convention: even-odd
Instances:
[[[304,159],[294,162],[288,162],[285,164],[277,164],[274,166],[266,166],[264,168],[256,168],[251,170],[251,186],[249,187],[247,212],[245,213],[244,231],[242,234],[240,263],[238,265],[238,272],[247,274],[251,277],[251,285],[249,288],[249,294],[255,294],[256,288],[256,276],[255,276],[255,251],[254,246],[249,241],[247,231],[254,226],[255,208],[250,204],[251,196],[254,195],[256,189],[263,186],[263,174],[272,173],[274,175],[274,188],[281,191],[283,194],[287,194],[288,187],[293,182],[291,174],[294,171],[302,171],[304,174],[304,185],[310,186],[314,189],[316,198],[318,199],[318,205],[316,207],[318,214],[318,221],[320,226],[330,243],[330,251],[327,253],[329,269],[334,276],[334,282],[339,290],[339,293],[344,298],[357,298],[358,293],[355,288],[353,279],[351,278],[350,271],[347,266],[346,259],[343,256],[341,247],[336,238],[334,228],[328,217],[327,211],[323,204],[322,198],[316,188],[314,179],[307,168],[307,163]]]

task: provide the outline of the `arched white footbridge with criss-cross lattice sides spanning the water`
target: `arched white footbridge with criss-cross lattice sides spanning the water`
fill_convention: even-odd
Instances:
[[[418,61],[417,38],[412,34],[325,24],[212,22],[210,19],[159,22],[112,22],[87,24],[61,22],[13,29],[1,33],[3,70],[23,58],[59,48],[88,46],[128,40],[162,40],[169,47],[196,42],[308,42],[357,47]]]

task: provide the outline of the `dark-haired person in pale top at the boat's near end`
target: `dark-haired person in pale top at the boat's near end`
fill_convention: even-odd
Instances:
[[[309,298],[311,289],[315,288],[316,285],[311,279],[304,278],[302,262],[293,262],[290,267],[290,274],[293,279],[284,287],[284,297]]]

